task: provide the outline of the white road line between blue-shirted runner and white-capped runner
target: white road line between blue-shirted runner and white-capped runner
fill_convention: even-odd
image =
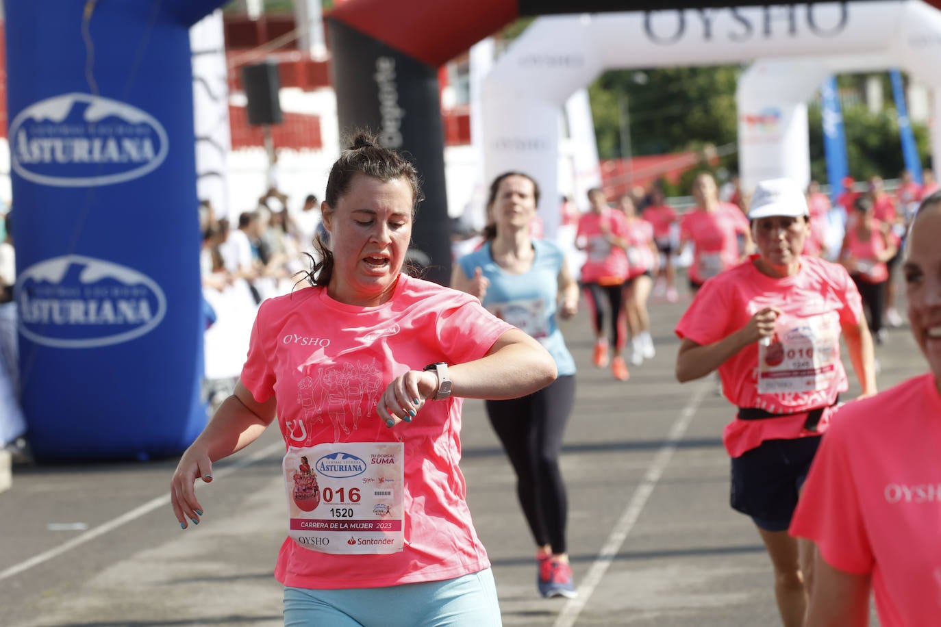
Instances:
[[[588,574],[585,575],[584,580],[582,580],[582,585],[578,588],[579,596],[566,601],[553,627],[573,627],[573,625],[575,625],[575,621],[582,613],[585,604],[588,603],[592,594],[595,593],[595,588],[598,588],[598,584],[601,583],[604,573],[608,572],[608,568],[611,566],[611,562],[614,561],[614,557],[617,556],[618,551],[621,550],[624,541],[628,539],[630,530],[634,527],[634,524],[637,523],[637,519],[646,506],[647,499],[650,498],[650,494],[653,494],[657,483],[663,475],[663,471],[666,470],[666,467],[670,464],[670,460],[673,459],[673,454],[677,451],[680,440],[683,439],[683,435],[689,428],[690,422],[693,421],[696,410],[699,409],[699,403],[701,403],[703,398],[714,388],[715,383],[712,381],[711,377],[706,382],[699,384],[692,398],[686,404],[686,407],[679,412],[676,421],[670,428],[670,433],[666,436],[666,444],[657,451],[657,455],[654,457],[653,461],[650,462],[650,465],[647,466],[644,478],[641,479],[640,484],[634,490],[634,494],[630,497],[628,507],[624,509],[621,517],[614,525],[611,535],[608,536],[608,540],[605,541],[604,545],[601,547],[601,551],[598,553],[598,557],[596,557],[595,562],[588,570]]]

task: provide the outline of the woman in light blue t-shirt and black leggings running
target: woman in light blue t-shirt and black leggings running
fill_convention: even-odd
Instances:
[[[559,467],[562,438],[575,400],[575,361],[556,324],[578,308],[578,284],[556,243],[531,237],[539,188],[506,172],[490,185],[493,221],[477,251],[458,259],[451,285],[476,297],[498,318],[539,340],[555,359],[554,383],[513,400],[487,400],[486,414],[517,475],[517,495],[536,543],[536,587],[544,597],[574,597],[566,548],[566,486]]]

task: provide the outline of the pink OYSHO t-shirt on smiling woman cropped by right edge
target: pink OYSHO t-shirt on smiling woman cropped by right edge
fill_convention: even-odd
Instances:
[[[924,374],[840,407],[790,534],[828,564],[872,575],[883,627],[941,618],[941,397]]]

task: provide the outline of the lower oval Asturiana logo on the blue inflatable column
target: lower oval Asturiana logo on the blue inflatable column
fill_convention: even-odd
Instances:
[[[167,315],[167,296],[150,276],[103,259],[45,259],[17,277],[16,289],[20,332],[46,346],[119,344]]]

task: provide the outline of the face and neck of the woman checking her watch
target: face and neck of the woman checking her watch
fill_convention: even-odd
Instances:
[[[324,203],[333,249],[327,293],[333,299],[358,306],[389,300],[411,240],[413,200],[405,179],[357,174],[336,207]]]

